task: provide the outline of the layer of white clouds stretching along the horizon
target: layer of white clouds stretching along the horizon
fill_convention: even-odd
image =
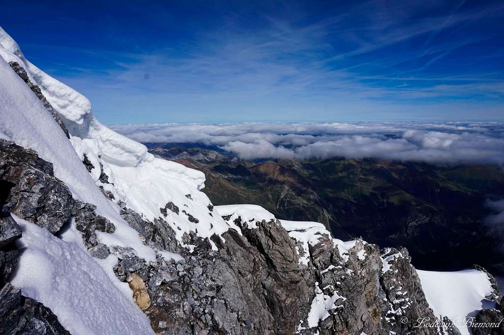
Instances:
[[[139,142],[216,145],[242,159],[383,158],[504,166],[496,122],[233,123],[115,125]]]

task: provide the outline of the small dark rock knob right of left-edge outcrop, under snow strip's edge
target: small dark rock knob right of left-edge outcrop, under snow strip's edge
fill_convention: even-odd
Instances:
[[[88,247],[95,246],[95,230],[112,233],[115,226],[107,218],[96,214],[96,206],[75,200],[72,207],[72,215],[75,217],[76,228],[83,233],[83,239]]]

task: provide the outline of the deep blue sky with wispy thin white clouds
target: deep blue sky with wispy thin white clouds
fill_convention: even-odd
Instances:
[[[502,2],[104,3],[0,25],[105,124],[504,120]]]

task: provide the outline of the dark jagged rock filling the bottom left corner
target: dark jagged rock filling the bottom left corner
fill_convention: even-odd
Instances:
[[[24,297],[21,290],[11,284],[0,291],[0,302],[1,334],[70,335],[49,308]]]

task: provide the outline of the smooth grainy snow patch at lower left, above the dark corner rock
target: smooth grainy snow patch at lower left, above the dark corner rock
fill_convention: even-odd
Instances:
[[[146,315],[133,302],[131,290],[130,297],[121,293],[82,245],[61,240],[19,217],[14,219],[23,232],[16,241],[23,252],[12,284],[25,296],[50,308],[72,334],[153,333]]]

